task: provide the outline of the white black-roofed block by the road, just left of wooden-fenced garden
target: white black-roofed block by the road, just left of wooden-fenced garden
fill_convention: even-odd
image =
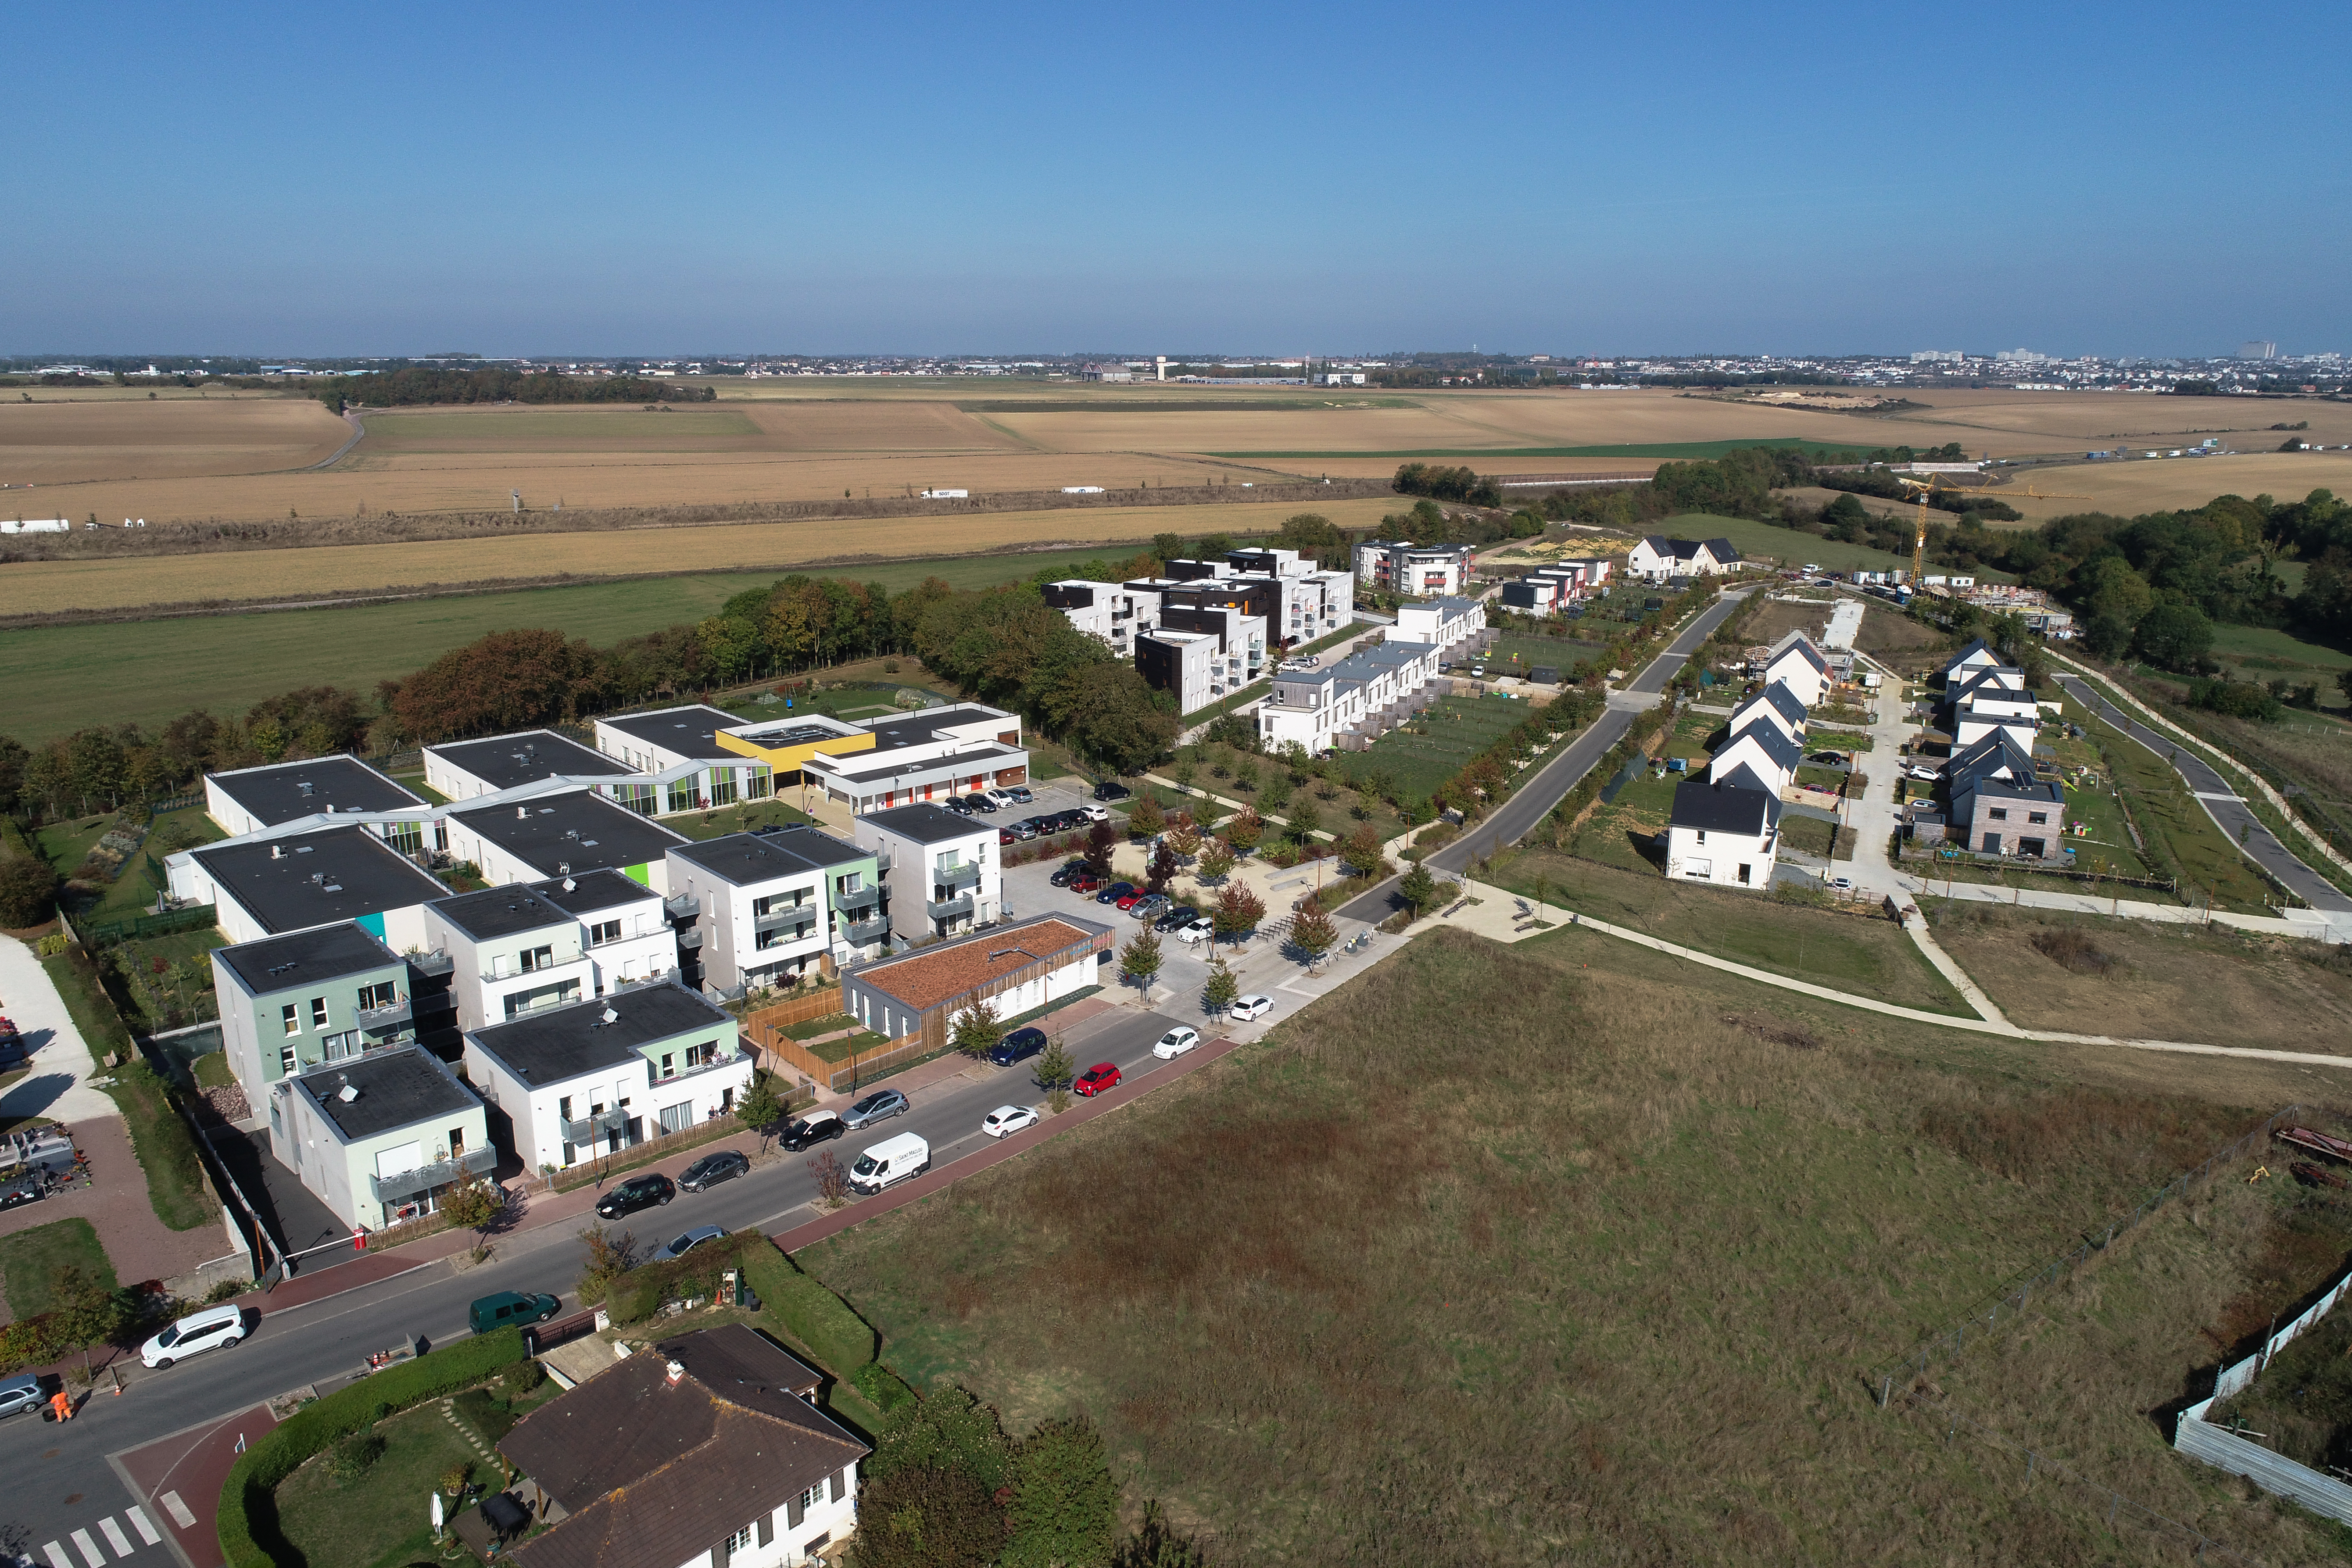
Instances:
[[[753,1058],[682,985],[517,1013],[466,1032],[466,1077],[524,1171],[567,1168],[734,1110]]]

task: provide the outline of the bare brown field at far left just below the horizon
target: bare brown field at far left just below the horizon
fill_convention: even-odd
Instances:
[[[0,484],[301,468],[332,456],[346,440],[350,425],[310,400],[0,402]],[[80,491],[0,491],[0,510],[12,517],[78,520],[92,508],[120,522],[108,505]]]

